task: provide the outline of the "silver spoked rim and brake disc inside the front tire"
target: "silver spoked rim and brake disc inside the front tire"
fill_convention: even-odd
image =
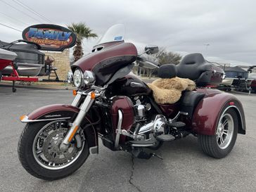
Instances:
[[[33,143],[33,155],[39,165],[46,169],[63,169],[79,158],[85,141],[82,130],[78,132],[79,145],[74,139],[67,150],[60,150],[60,143],[65,138],[68,129],[68,122],[65,120],[50,122],[41,128]],[[77,148],[77,146],[80,147]]]

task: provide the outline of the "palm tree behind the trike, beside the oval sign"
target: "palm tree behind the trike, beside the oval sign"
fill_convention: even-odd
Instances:
[[[93,33],[92,30],[82,22],[72,23],[71,25],[68,25],[68,28],[77,36],[77,42],[73,52],[74,60],[77,61],[79,58],[82,58],[84,54],[82,49],[82,40],[84,38],[89,39],[90,37],[98,37],[98,35]]]

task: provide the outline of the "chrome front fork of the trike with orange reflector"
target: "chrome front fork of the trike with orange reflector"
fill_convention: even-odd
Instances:
[[[60,144],[60,149],[65,150],[68,148],[70,141],[72,141],[75,133],[77,132],[77,129],[79,129],[80,124],[82,123],[82,120],[84,120],[85,115],[87,115],[87,112],[91,108],[92,103],[94,103],[95,97],[92,96],[94,94],[94,91],[90,91],[87,94],[87,97],[84,99],[84,103],[80,107],[80,111],[75,118],[75,121],[72,123],[72,127],[70,127],[68,134],[66,134],[65,138],[63,139],[63,142]],[[80,98],[82,97],[82,93],[77,93],[77,95],[74,98],[74,101],[72,102],[72,106],[77,107]]]

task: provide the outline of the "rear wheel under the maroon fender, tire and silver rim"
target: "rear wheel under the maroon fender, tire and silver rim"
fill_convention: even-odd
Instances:
[[[235,145],[237,132],[238,117],[235,110],[229,108],[219,118],[215,135],[198,135],[198,142],[207,155],[224,158]]]

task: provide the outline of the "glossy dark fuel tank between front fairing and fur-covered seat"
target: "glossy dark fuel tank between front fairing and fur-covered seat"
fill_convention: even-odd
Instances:
[[[142,96],[151,94],[151,89],[135,75],[126,75],[110,84],[112,94],[123,96]]]

